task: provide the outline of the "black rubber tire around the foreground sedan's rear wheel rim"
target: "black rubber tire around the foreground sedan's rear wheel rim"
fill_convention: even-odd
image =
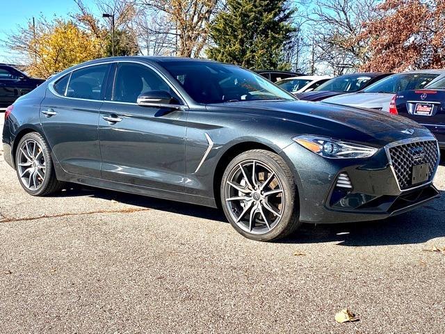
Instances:
[[[19,166],[19,163],[23,158],[20,148],[22,148],[26,141],[35,141],[36,143],[38,143],[42,151],[42,157],[44,158],[44,160],[42,160],[44,161],[44,163],[42,164],[42,166],[44,166],[44,177],[43,181],[40,182],[38,189],[30,189],[24,183],[25,181],[22,180],[22,177],[20,175],[21,167]],[[17,150],[15,152],[15,170],[17,171],[17,177],[20,184],[22,185],[22,188],[32,196],[47,196],[51,193],[55,193],[56,191],[60,191],[60,189],[63,189],[63,186],[65,185],[65,182],[60,182],[57,180],[56,172],[54,171],[54,164],[51,158],[51,149],[49,148],[47,141],[38,132],[30,132],[29,134],[25,134],[22,139],[20,139],[19,144],[17,145]],[[38,178],[39,180],[42,180],[41,177]]]

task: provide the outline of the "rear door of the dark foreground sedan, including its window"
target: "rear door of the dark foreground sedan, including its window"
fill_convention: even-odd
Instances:
[[[109,66],[92,65],[65,74],[49,84],[40,105],[44,135],[68,173],[101,176],[97,126]]]

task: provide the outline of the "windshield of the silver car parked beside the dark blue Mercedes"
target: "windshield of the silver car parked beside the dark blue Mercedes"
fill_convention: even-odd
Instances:
[[[393,74],[365,88],[363,93],[395,94],[403,90],[421,89],[438,76],[431,73]]]

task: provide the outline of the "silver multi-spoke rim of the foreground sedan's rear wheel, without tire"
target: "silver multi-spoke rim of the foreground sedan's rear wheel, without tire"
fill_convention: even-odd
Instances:
[[[40,189],[44,182],[46,166],[44,152],[37,141],[28,139],[20,145],[17,168],[20,180],[27,189]]]

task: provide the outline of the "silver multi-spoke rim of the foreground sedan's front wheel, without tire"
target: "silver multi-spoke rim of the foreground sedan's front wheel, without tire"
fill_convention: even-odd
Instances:
[[[225,183],[225,204],[234,222],[245,232],[273,230],[284,212],[284,191],[277,173],[264,162],[242,161]]]

